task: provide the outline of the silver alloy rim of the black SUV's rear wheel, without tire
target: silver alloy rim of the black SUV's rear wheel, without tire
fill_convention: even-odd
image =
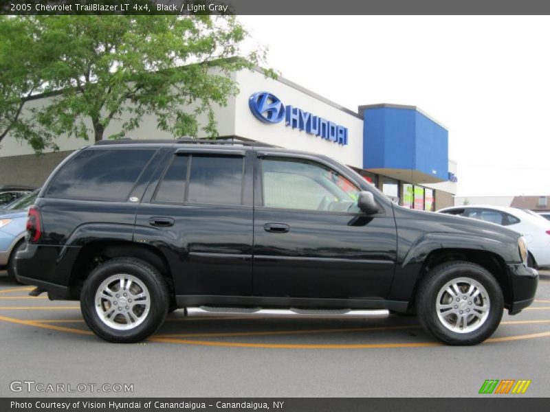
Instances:
[[[100,284],[95,302],[99,319],[117,330],[140,325],[151,309],[151,296],[144,283],[122,273],[109,276]]]

